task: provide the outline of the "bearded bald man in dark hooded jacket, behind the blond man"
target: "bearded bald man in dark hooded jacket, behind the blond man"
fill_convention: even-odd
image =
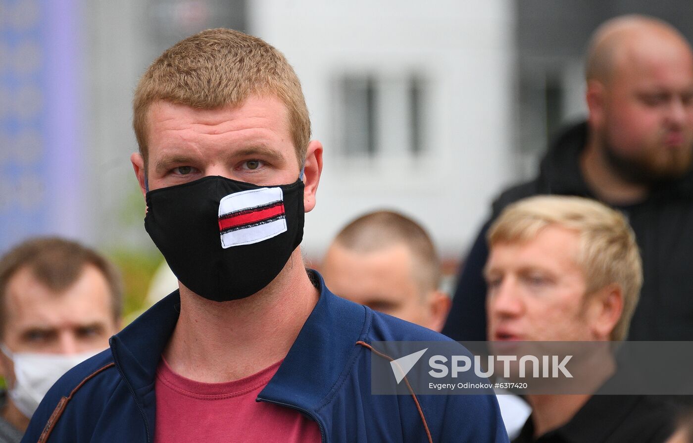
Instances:
[[[586,122],[550,147],[536,179],[503,192],[458,280],[444,333],[484,340],[486,231],[507,205],[536,194],[601,200],[629,218],[644,285],[631,340],[693,340],[693,55],[651,17],[600,26],[586,63]]]

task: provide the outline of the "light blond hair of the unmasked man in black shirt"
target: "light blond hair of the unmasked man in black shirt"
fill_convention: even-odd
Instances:
[[[617,284],[623,293],[623,312],[611,340],[624,340],[638,304],[642,262],[635,234],[618,211],[595,200],[568,196],[535,196],[507,207],[486,234],[489,247],[497,243],[531,241],[547,226],[577,232],[576,262],[584,272],[586,294]]]

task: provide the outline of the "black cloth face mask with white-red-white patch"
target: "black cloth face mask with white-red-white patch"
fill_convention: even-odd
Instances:
[[[257,186],[220,176],[149,191],[144,226],[187,288],[227,302],[279,275],[301,244],[304,183]]]

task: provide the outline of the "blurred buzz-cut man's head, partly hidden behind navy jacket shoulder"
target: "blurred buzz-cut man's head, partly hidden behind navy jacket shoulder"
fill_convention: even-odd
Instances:
[[[344,227],[322,273],[340,297],[434,331],[450,310],[450,298],[438,290],[440,261],[430,236],[396,212],[371,212]]]

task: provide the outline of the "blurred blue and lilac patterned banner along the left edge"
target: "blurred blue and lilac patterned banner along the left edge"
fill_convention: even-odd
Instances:
[[[0,253],[82,229],[78,3],[0,0]]]

